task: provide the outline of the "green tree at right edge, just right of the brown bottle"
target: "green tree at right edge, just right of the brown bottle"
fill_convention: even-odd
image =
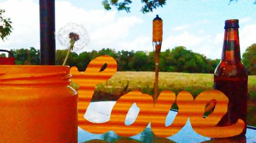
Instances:
[[[256,74],[256,43],[245,50],[242,62],[249,74]]]

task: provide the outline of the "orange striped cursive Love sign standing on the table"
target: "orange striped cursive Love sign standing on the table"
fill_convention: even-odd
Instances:
[[[105,63],[106,68],[100,71]],[[139,134],[151,123],[155,135],[169,137],[179,132],[189,118],[194,131],[207,137],[230,137],[243,131],[245,123],[240,119],[231,126],[216,126],[227,112],[228,104],[228,98],[218,90],[204,91],[195,100],[189,92],[180,92],[176,97],[174,92],[165,90],[160,93],[155,106],[152,96],[142,94],[140,91],[132,91],[117,100],[108,122],[88,121],[84,118],[84,113],[90,104],[96,84],[105,82],[116,71],[116,61],[107,55],[91,61],[84,73],[79,72],[76,67],[71,68],[72,81],[79,84],[78,126],[80,128],[95,134],[113,130],[120,136],[128,137]],[[208,117],[203,118],[205,105],[211,100],[216,100],[215,109]],[[171,125],[165,126],[166,116],[175,101],[179,107],[178,114]],[[125,125],[127,112],[134,103],[140,109],[138,117],[132,125]]]

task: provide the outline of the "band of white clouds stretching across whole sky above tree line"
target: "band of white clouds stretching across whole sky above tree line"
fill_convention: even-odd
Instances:
[[[33,46],[39,49],[38,3],[33,0],[9,0],[1,1],[0,6],[6,10],[5,16],[11,18],[14,28],[11,35],[8,36],[9,40],[5,42],[0,40],[0,48],[29,48]],[[150,31],[150,29],[143,25],[143,20],[140,17],[128,14],[119,16],[115,10],[84,10],[75,7],[68,1],[57,1],[55,6],[56,32],[68,22],[82,24],[88,29],[91,41],[82,51],[99,50],[106,47],[115,48],[116,50],[153,50],[152,37],[145,33],[145,31]],[[149,13],[147,16],[154,18],[156,13],[158,11]],[[255,22],[252,23],[252,21],[252,17],[240,19],[241,26],[243,26],[239,29],[241,54],[248,46],[256,43],[256,24]],[[224,31],[217,34],[208,33],[208,31],[203,31],[201,27],[198,32],[189,30],[189,27],[205,25],[209,22],[209,20],[199,20],[172,28],[174,33],[169,35],[166,33],[165,37],[167,38],[163,40],[162,50],[182,45],[194,52],[205,54],[207,58],[220,58]],[[136,30],[141,28],[143,33],[140,33],[140,29],[136,32],[133,31],[134,28]],[[64,49],[66,47],[61,46],[56,38],[56,48]]]

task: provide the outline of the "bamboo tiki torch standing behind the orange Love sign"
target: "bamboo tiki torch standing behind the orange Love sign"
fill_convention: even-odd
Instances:
[[[159,72],[159,55],[161,51],[161,45],[163,41],[163,20],[157,17],[153,20],[153,48],[155,51],[155,82],[154,82],[154,105],[158,97],[158,72]]]

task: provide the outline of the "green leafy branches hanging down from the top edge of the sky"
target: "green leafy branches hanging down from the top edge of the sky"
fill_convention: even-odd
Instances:
[[[232,1],[238,1],[238,0],[230,0]],[[130,12],[131,7],[129,5],[132,3],[132,0],[123,0],[122,2],[118,2],[118,0],[103,0],[102,5],[105,10],[111,10],[112,6],[116,7],[118,11],[125,10],[126,12]],[[166,0],[141,0],[141,3],[143,4],[141,8],[142,13],[148,13],[153,12],[154,9],[157,9],[158,7],[163,7],[163,5],[166,4]],[[256,5],[256,0],[254,2],[254,5]]]

